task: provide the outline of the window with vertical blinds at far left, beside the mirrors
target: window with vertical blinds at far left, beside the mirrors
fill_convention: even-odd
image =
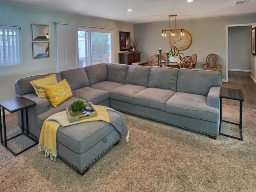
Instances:
[[[0,66],[22,63],[20,27],[0,26]]]

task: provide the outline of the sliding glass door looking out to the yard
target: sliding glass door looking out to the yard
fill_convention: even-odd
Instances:
[[[112,62],[114,30],[78,27],[79,67]]]

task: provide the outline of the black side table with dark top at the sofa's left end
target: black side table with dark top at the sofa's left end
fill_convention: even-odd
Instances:
[[[1,111],[1,107],[2,107],[2,112],[3,112],[3,127],[4,127],[4,141],[3,141],[3,133],[2,133],[2,117],[0,118],[0,137],[1,137],[1,144],[7,148],[14,156],[17,156],[18,154],[28,150],[29,148],[31,148],[32,146],[35,146],[36,144],[38,144],[38,141],[36,141],[34,138],[29,136],[29,130],[28,130],[28,107],[34,106],[36,105],[36,103],[34,101],[31,101],[29,99],[26,99],[25,97],[17,97],[15,99],[10,99],[7,101],[3,101],[0,103],[0,111]],[[6,138],[6,125],[5,125],[5,113],[4,113],[4,109],[6,109],[7,111],[9,111],[10,113],[14,113],[16,111],[21,111],[21,119],[22,119],[22,133],[15,135],[14,137],[7,139]],[[25,109],[26,111],[26,133],[24,133],[24,120],[23,120],[23,109]],[[26,137],[28,137],[29,139],[31,139],[32,141],[34,141],[35,143],[28,146],[27,148],[21,150],[20,152],[14,152],[11,148],[9,148],[7,146],[7,141],[10,141],[11,139],[14,139],[15,137],[18,137],[20,135],[25,135]]]

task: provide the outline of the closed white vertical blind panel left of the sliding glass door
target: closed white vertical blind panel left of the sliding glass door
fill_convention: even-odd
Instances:
[[[77,63],[77,38],[78,26],[56,24],[57,25],[57,54],[58,71],[74,69]]]

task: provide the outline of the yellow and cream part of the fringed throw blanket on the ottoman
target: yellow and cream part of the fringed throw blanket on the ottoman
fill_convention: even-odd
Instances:
[[[66,127],[68,125],[74,125],[76,123],[88,122],[88,121],[101,120],[101,121],[106,121],[108,123],[110,122],[108,112],[106,111],[106,108],[104,106],[94,105],[94,109],[98,112],[98,115],[96,117],[82,119],[80,121],[75,121],[73,123],[69,123],[66,111],[62,111],[59,113],[55,113],[54,115],[51,115],[49,118],[47,118],[44,121],[44,124],[42,126],[42,130],[41,130],[39,142],[38,142],[38,151],[41,152],[44,150],[44,154],[46,157],[50,156],[50,160],[54,160],[54,161],[56,160],[56,156],[57,156],[56,135],[57,135],[57,130],[60,127],[60,124],[58,123],[58,119],[61,121],[62,127]],[[66,117],[64,115],[65,113],[66,113]],[[128,136],[127,137],[127,140],[128,140],[129,133],[127,136]]]

